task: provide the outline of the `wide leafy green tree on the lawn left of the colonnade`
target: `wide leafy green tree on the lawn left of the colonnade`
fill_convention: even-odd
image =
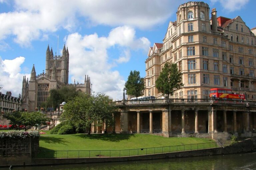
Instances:
[[[72,125],[83,126],[90,134],[91,125],[100,126],[105,121],[111,125],[113,123],[112,114],[116,107],[105,94],[89,96],[81,94],[64,105],[65,111],[61,115],[62,121],[68,121]]]

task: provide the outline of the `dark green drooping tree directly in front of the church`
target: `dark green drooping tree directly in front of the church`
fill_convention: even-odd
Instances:
[[[76,88],[70,86],[63,86],[60,89],[52,89],[50,90],[47,102],[43,103],[40,107],[57,108],[59,104],[72,100],[74,97],[78,96],[78,94],[79,92],[76,91]]]

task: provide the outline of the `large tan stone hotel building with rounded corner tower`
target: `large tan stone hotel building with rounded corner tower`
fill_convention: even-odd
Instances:
[[[218,17],[204,2],[182,4],[176,15],[163,43],[149,48],[144,95],[163,97],[155,81],[164,64],[173,62],[184,83],[173,98],[209,98],[211,88],[227,88],[255,100],[256,29],[250,30],[240,16]]]

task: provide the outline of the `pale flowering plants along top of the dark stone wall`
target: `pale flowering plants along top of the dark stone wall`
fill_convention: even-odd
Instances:
[[[38,137],[38,130],[10,130],[10,131],[0,131],[0,138],[26,138],[26,137]]]

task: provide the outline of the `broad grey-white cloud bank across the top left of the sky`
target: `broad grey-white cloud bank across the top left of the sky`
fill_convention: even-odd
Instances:
[[[0,14],[0,40],[13,35],[16,43],[27,47],[31,41],[45,40],[45,34],[61,28],[76,31],[82,20],[88,25],[148,29],[163,23],[176,12],[179,3],[174,0],[15,0],[12,12]]]

